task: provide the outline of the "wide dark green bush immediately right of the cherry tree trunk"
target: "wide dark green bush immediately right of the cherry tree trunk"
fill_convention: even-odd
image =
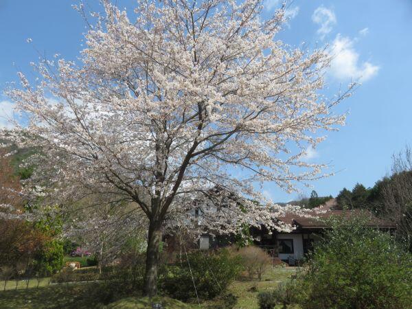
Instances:
[[[187,254],[187,259],[183,255],[181,263],[164,265],[160,286],[175,299],[196,299],[194,286],[199,298],[211,299],[225,292],[240,271],[240,257],[231,255],[227,249],[215,253],[196,251]]]

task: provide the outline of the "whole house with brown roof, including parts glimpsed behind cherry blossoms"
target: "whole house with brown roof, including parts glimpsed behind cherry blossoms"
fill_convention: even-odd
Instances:
[[[210,201],[206,205],[209,207],[216,207],[216,204],[223,205],[227,203],[228,199],[231,201],[236,201],[236,196],[233,194],[225,196],[223,199],[216,198],[214,196],[220,196],[220,189],[215,189],[209,192]],[[216,199],[217,201],[214,201]],[[325,224],[325,219],[331,218],[333,216],[351,218],[358,216],[367,216],[367,224],[371,227],[376,227],[382,230],[395,230],[396,226],[391,222],[376,218],[373,214],[361,211],[360,209],[353,210],[339,210],[337,209],[336,199],[332,198],[324,205],[312,209],[309,211],[308,216],[298,216],[297,214],[290,213],[284,216],[275,218],[275,220],[282,221],[287,225],[295,227],[293,231],[290,232],[277,232],[269,231],[264,225],[258,227],[251,227],[250,233],[253,236],[255,245],[261,247],[268,251],[268,253],[277,260],[282,260],[292,264],[294,261],[302,260],[305,255],[312,249],[313,242],[321,239],[325,229],[329,227]],[[217,211],[217,210],[216,210]],[[201,207],[191,208],[190,217],[196,220],[201,220],[203,211]],[[211,233],[205,233],[198,238],[195,247],[197,249],[207,250],[216,249],[219,247],[225,247],[232,244],[235,241],[233,235],[222,236],[216,235],[216,237],[211,236]],[[172,248],[172,241],[170,241],[170,247]]]

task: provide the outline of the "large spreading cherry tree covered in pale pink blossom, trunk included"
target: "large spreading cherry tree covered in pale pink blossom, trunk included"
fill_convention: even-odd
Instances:
[[[325,49],[277,40],[284,8],[265,19],[262,2],[139,0],[132,20],[104,0],[80,64],[56,55],[34,65],[35,85],[19,73],[21,88],[8,91],[29,117],[16,124],[26,133],[17,143],[42,149],[32,181],[63,199],[110,192],[148,218],[148,295],[157,293],[162,229],[187,222],[197,196],[219,185],[248,198],[242,211],[216,216],[227,232],[244,222],[283,229],[273,216],[286,208],[249,202],[262,200],[256,184],[291,191],[325,176],[306,149],[344,123],[332,108],[353,85],[323,98]],[[41,179],[45,169],[53,176]]]

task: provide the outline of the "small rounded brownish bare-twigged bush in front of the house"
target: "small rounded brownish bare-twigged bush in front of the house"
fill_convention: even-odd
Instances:
[[[271,257],[259,247],[244,247],[239,250],[239,255],[249,279],[253,279],[257,275],[258,279],[262,280],[262,275],[272,265]]]

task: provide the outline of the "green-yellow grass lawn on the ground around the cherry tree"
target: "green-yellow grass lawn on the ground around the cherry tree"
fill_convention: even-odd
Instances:
[[[279,282],[283,282],[291,275],[296,273],[296,268],[272,268],[263,276],[262,281],[242,281],[233,282],[228,289],[238,297],[237,309],[257,309],[257,295],[260,291],[271,290],[276,288]],[[39,288],[37,280],[32,279],[29,282],[29,288],[25,289],[25,281],[19,282],[18,289],[14,290],[15,282],[7,284],[8,290],[3,292],[3,282],[0,282],[0,308],[27,308],[27,309],[45,309],[45,308],[100,308],[98,301],[90,297],[90,288],[94,283],[76,283],[76,284],[48,284],[49,278],[41,279]],[[110,304],[107,308],[146,308],[148,299],[146,298],[127,298]],[[179,301],[163,298],[165,308],[199,308],[198,304],[186,304],[181,306]],[[180,304],[180,305],[179,305]],[[216,301],[206,301],[201,304],[200,308],[216,308]],[[150,308],[150,306],[148,307]],[[280,308],[280,307],[279,307]]]

